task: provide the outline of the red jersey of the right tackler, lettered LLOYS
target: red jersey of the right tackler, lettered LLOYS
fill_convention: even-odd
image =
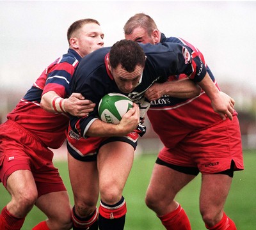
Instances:
[[[184,43],[191,47],[191,49],[200,56],[212,81],[216,84],[217,88],[219,88],[211,70],[204,61],[204,56],[198,49],[193,47],[193,45],[179,38],[165,38],[164,34],[162,34],[161,42]],[[183,79],[184,77],[187,76],[170,76],[169,81]],[[158,100],[151,102],[147,115],[154,131],[159,135],[159,138],[166,148],[174,148],[179,141],[184,139],[184,137],[191,132],[211,127],[211,125],[222,120],[221,116],[212,109],[211,100],[204,91],[195,98],[186,99],[164,95]],[[233,116],[237,116],[237,113],[234,112]]]

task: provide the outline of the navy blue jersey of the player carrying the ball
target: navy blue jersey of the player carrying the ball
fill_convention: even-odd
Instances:
[[[140,100],[145,91],[154,82],[165,82],[170,75],[184,73],[199,82],[205,76],[206,68],[199,56],[191,48],[178,43],[141,44],[147,56],[140,84],[127,96],[133,102]],[[70,82],[70,93],[81,93],[86,99],[96,104],[95,109],[86,118],[70,117],[72,129],[86,137],[86,131],[99,118],[97,107],[100,99],[107,93],[123,93],[118,89],[113,76],[108,70],[106,57],[111,47],[95,50],[84,57],[77,66]],[[124,94],[124,93],[123,93]]]

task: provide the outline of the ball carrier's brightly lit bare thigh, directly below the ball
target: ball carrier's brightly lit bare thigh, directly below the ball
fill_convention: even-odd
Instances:
[[[108,142],[100,147],[97,164],[99,169],[100,193],[112,190],[122,193],[134,159],[134,148],[122,141]]]

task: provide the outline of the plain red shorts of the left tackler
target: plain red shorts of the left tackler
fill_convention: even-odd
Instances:
[[[35,178],[38,197],[66,190],[58,169],[52,164],[52,151],[38,137],[8,120],[0,125],[0,140],[0,180],[4,187],[13,172],[28,169]]]

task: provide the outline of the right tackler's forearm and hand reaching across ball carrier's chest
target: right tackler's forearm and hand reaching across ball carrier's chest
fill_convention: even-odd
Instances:
[[[201,88],[190,79],[179,81],[168,81],[164,83],[155,83],[146,92],[148,100],[157,100],[163,95],[169,95],[176,98],[193,98],[198,96]]]

